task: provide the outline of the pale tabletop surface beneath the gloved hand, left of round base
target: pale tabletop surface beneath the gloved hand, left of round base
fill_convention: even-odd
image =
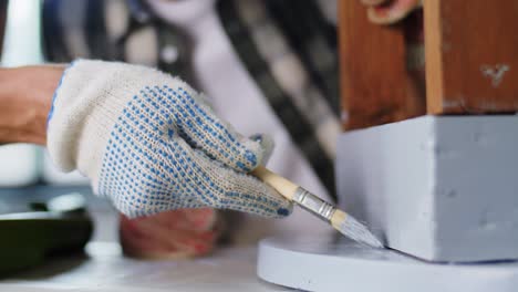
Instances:
[[[0,281],[0,291],[286,291],[256,275],[257,248],[226,248],[211,257],[145,261],[123,257],[115,242],[91,242],[86,257],[55,260]]]

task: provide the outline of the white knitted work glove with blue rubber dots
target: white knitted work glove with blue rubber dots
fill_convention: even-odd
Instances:
[[[49,114],[53,161],[90,177],[128,217],[199,207],[289,215],[289,201],[246,174],[263,163],[267,140],[244,138],[179,79],[123,63],[75,61]]]

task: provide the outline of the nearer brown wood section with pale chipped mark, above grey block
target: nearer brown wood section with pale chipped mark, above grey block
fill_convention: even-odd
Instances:
[[[425,0],[429,114],[518,109],[518,0]]]

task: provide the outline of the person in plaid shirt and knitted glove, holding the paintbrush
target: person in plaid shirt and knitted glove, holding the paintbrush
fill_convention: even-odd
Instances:
[[[376,23],[419,6],[362,2]],[[87,176],[121,211],[132,255],[201,255],[224,233],[236,244],[314,233],[324,225],[298,210],[268,220],[291,205],[248,173],[269,160],[335,198],[335,6],[45,0],[46,59],[80,60],[0,70],[0,143],[46,145],[61,169]]]

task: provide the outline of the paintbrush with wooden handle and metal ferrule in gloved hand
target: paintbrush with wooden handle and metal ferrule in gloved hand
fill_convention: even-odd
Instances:
[[[334,229],[345,237],[373,248],[383,248],[380,240],[377,240],[364,225],[359,222],[352,216],[322,200],[287,178],[283,178],[262,166],[257,167],[251,174],[265,184],[274,188],[284,198],[331,223]]]

